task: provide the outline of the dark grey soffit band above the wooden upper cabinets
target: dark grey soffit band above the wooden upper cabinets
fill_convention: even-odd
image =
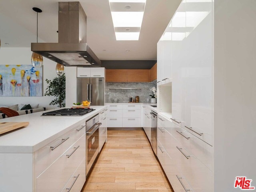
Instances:
[[[101,60],[106,69],[151,69],[156,60]]]

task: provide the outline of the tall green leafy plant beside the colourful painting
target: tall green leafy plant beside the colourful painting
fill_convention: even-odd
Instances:
[[[57,105],[58,107],[64,107],[65,96],[66,96],[66,76],[65,74],[58,75],[53,80],[46,79],[49,86],[46,88],[44,96],[55,96],[56,98],[50,102],[49,105]]]

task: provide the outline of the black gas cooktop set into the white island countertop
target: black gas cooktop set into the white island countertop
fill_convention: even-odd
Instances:
[[[85,115],[86,113],[89,113],[95,109],[60,109],[60,110],[55,110],[55,111],[50,111],[43,113],[42,116],[82,116]]]

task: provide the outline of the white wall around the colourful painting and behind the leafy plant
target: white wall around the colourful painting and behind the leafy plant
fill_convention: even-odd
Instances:
[[[32,51],[30,48],[0,48],[0,65],[31,65]],[[43,95],[48,84],[45,79],[52,80],[57,76],[56,63],[44,58],[43,63]],[[38,97],[0,97],[0,104],[39,104],[46,109],[57,108],[57,106],[49,105],[54,100],[53,96],[38,96]]]

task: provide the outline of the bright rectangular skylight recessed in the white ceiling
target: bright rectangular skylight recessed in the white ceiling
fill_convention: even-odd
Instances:
[[[146,0],[109,0],[116,40],[139,40]]]

